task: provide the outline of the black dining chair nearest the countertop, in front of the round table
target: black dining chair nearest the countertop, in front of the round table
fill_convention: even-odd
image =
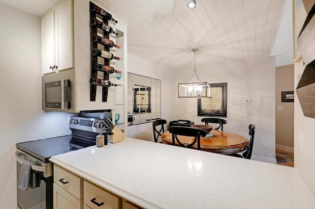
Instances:
[[[181,147],[191,148],[193,145],[197,143],[197,149],[200,150],[200,137],[206,136],[207,131],[202,129],[196,129],[191,127],[183,127],[183,126],[172,126],[169,128],[169,132],[172,133],[172,144],[175,145],[175,140],[178,142],[178,144]],[[178,135],[182,136],[193,136],[194,140],[188,144],[185,145],[180,141],[180,139],[177,137]]]

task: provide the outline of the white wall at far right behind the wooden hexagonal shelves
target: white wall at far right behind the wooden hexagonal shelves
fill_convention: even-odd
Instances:
[[[294,64],[294,89],[303,73],[303,59]],[[296,93],[294,95],[294,167],[315,194],[315,118],[305,117]],[[303,142],[302,142],[303,141]]]

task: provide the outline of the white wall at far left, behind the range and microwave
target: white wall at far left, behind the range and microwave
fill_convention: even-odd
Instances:
[[[16,209],[15,144],[71,134],[41,110],[40,20],[0,3],[0,208]]]

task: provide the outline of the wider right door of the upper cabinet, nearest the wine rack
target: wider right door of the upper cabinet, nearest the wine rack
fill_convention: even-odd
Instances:
[[[73,3],[65,1],[55,10],[55,63],[57,70],[74,67],[73,59]]]

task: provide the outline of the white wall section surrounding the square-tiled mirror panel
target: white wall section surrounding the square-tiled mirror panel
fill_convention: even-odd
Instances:
[[[167,123],[173,120],[175,114],[172,111],[172,101],[177,97],[172,86],[173,72],[130,53],[128,53],[128,72],[161,80],[161,118]],[[152,123],[128,126],[128,137],[154,141]]]

